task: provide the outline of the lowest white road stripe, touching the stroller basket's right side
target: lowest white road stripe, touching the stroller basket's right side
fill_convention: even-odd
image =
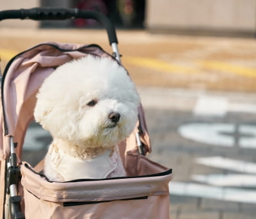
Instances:
[[[217,187],[196,183],[170,181],[170,195],[204,197],[208,199],[256,204],[256,190]]]

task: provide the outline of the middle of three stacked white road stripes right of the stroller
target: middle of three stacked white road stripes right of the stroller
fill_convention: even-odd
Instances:
[[[249,174],[210,174],[210,175],[193,175],[194,181],[214,186],[243,186],[255,187],[256,176]]]

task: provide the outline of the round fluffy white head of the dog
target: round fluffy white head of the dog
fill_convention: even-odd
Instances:
[[[109,147],[134,130],[139,104],[122,66],[87,56],[63,64],[45,79],[34,116],[54,138],[80,147]]]

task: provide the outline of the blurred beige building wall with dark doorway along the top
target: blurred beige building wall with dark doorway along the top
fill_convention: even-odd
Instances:
[[[1,10],[33,7],[66,7],[95,10],[119,28],[152,32],[255,36],[254,0],[18,0],[2,1]],[[8,21],[8,26],[17,26]],[[19,24],[20,26],[20,24]],[[92,20],[22,22],[29,27],[95,27]]]

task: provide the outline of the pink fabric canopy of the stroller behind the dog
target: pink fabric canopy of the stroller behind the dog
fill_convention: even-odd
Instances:
[[[0,132],[3,133],[3,139],[0,139],[0,160],[5,160],[10,154],[10,142],[4,139],[5,135],[14,137],[17,155],[21,156],[24,135],[33,120],[36,93],[44,79],[57,66],[87,54],[114,59],[94,44],[42,43],[10,60],[2,80],[3,126]],[[143,116],[141,119],[144,119]]]

